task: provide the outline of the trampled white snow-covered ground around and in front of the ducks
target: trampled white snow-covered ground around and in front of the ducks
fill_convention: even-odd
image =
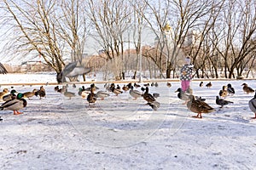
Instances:
[[[1,75],[0,82],[55,81],[55,75],[24,77]],[[234,104],[222,109],[215,104],[215,97],[228,82],[214,81],[212,88],[199,88],[200,82],[192,82],[194,94],[206,98],[207,104],[216,109],[202,114],[202,119],[191,117],[196,114],[174,93],[180,82],[172,82],[171,88],[167,88],[166,82],[149,87],[149,93],[160,94],[158,111],[145,105],[143,99],[132,99],[128,92],[111,94],[89,107],[86,99],[77,94],[81,85],[69,86],[68,91],[77,94],[73,99],[55,92],[54,86],[44,86],[46,98],[27,99],[24,114],[0,112],[3,118],[0,167],[4,170],[256,169],[256,120],[251,119],[254,114],[248,107],[254,94],[242,92],[243,82],[256,88],[254,80],[230,82],[236,94],[227,99]],[[103,84],[96,87],[104,90]],[[13,88],[23,93],[39,86]]]

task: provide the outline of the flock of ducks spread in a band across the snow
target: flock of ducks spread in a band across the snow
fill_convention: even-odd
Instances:
[[[125,84],[122,88],[119,86],[119,84],[106,83],[104,85],[104,90],[99,90],[99,88],[97,88],[96,85],[92,83],[90,84],[89,88],[84,88],[84,86],[79,88],[78,94],[83,99],[86,99],[88,105],[90,106],[95,105],[97,99],[103,100],[105,98],[108,98],[110,94],[118,96],[119,94],[129,92],[133,99],[143,98],[147,102],[146,105],[149,105],[154,111],[157,111],[158,108],[160,108],[160,102],[157,101],[157,98],[160,96],[160,94],[150,94],[148,88],[149,86],[158,87],[158,83],[152,82],[151,85],[149,83],[140,85],[136,82],[134,82],[133,84],[130,82],[128,84]],[[166,86],[168,88],[171,88],[171,82],[167,82]],[[203,88],[203,82],[201,82],[199,86]],[[252,94],[255,92],[253,88],[247,86],[247,83],[243,83],[241,86],[243,86],[242,90],[245,94]],[[212,83],[207,83],[206,87],[211,88]],[[0,93],[0,99],[4,102],[2,105],[0,105],[0,110],[14,111],[14,115],[19,115],[22,113],[20,112],[20,110],[26,107],[26,99],[30,99],[32,98],[32,96],[38,96],[39,99],[42,99],[46,95],[43,86],[41,86],[39,89],[33,89],[32,92],[26,93],[17,93],[13,87],[11,88],[12,89],[10,91],[8,88],[3,88],[3,92]],[[76,96],[76,94],[73,92],[69,92],[67,88],[67,85],[63,85],[62,88],[56,86],[55,92],[63,94],[68,99],[72,99]],[[76,86],[73,85],[73,88],[76,88]],[[189,111],[197,113],[196,116],[193,116],[195,118],[202,118],[203,113],[210,113],[212,111],[215,111],[212,106],[207,104],[206,99],[202,99],[201,97],[193,95],[192,89],[189,89],[187,92],[183,92],[181,88],[177,88],[176,92],[178,92],[177,98],[185,101],[184,104],[187,106]],[[216,96],[216,104],[220,105],[220,108],[223,108],[224,105],[233,104],[233,102],[227,100],[226,97],[233,96],[234,94],[236,94],[235,89],[231,86],[230,83],[224,85],[223,88],[219,90],[219,93]],[[253,118],[256,119],[256,93],[253,99],[249,100],[248,105],[251,111],[253,111],[253,113],[255,114]]]

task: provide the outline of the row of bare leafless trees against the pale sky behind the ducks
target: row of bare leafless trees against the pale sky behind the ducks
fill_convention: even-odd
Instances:
[[[253,0],[3,0],[0,10],[6,42],[2,54],[39,54],[57,73],[67,64],[66,57],[83,64],[91,38],[96,51],[102,51],[98,57],[112,63],[119,77],[131,69],[127,56],[135,62],[134,77],[140,57],[166,78],[176,75],[186,55],[195,65],[195,77],[218,78],[219,70],[226,78],[241,77],[254,66]],[[170,37],[165,32],[168,22]],[[192,31],[200,36],[187,44]],[[145,32],[157,40],[150,48],[143,48],[149,42],[143,39]],[[135,54],[125,53],[131,47]]]

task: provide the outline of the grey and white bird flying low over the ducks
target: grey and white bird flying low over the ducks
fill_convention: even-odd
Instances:
[[[66,82],[65,77],[73,78],[73,77],[78,77],[79,75],[84,75],[87,74],[91,71],[91,68],[86,68],[84,66],[78,66],[78,62],[73,62],[69,63],[68,65],[65,66],[63,71],[57,74],[57,82]]]

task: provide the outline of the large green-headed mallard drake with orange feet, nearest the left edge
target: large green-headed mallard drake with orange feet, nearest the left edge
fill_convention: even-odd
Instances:
[[[26,104],[26,99],[23,99],[23,94],[17,94],[16,99],[11,99],[3,103],[3,105],[0,106],[0,110],[14,111],[14,115],[19,115],[22,114],[19,110],[26,107]]]

